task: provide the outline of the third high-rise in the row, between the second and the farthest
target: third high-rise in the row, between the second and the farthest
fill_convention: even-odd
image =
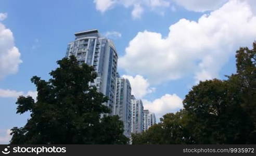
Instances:
[[[137,100],[132,95],[132,133],[142,133],[144,127],[144,113],[142,100]]]

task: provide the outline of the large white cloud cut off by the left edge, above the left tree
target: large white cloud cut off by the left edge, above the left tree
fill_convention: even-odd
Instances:
[[[6,17],[7,14],[0,14],[0,19],[3,20]],[[12,32],[0,22],[0,80],[8,74],[16,73],[21,62]]]

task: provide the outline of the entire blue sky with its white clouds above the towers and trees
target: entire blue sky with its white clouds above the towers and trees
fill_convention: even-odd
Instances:
[[[236,71],[235,51],[256,38],[255,12],[252,0],[0,1],[0,144],[29,118],[16,114],[17,96],[36,95],[30,78],[49,79],[74,32],[112,38],[120,75],[159,118],[198,81]]]

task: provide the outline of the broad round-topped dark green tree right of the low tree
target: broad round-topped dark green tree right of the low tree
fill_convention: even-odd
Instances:
[[[246,144],[252,121],[241,107],[240,88],[230,81],[200,82],[186,95],[187,123],[196,144]]]

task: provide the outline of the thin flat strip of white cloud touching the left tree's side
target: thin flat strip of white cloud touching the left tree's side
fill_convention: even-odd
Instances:
[[[18,98],[21,95],[31,96],[34,100],[36,100],[37,92],[36,91],[29,91],[27,93],[24,93],[24,92],[18,92],[16,90],[1,89],[0,88],[0,97],[2,97],[2,98]]]

